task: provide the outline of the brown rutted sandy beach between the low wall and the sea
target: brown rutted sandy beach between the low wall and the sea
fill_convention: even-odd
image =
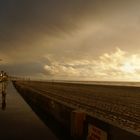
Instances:
[[[33,81],[18,81],[17,84],[140,134],[140,87]]]

